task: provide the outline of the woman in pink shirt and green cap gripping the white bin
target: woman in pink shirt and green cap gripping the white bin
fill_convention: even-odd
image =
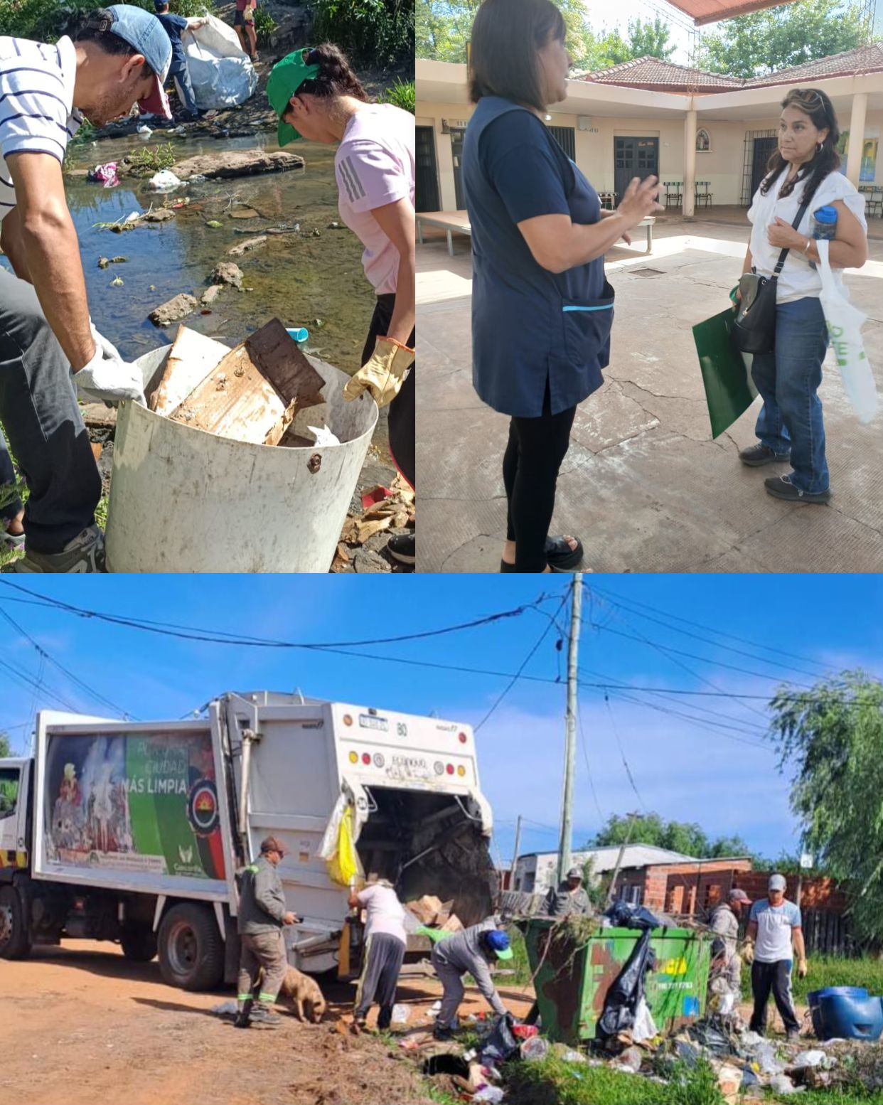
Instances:
[[[296,50],[270,74],[266,95],[280,117],[280,146],[304,137],[339,144],[335,175],[340,218],[359,238],[377,304],[361,368],[344,389],[389,404],[392,460],[414,486],[414,118],[391,104],[369,104],[340,50],[329,42]],[[295,129],[296,128],[296,129]],[[387,546],[414,564],[414,536]]]

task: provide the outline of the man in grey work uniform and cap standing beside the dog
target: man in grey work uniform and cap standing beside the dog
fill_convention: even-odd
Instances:
[[[297,923],[297,916],[286,906],[285,891],[276,870],[284,855],[285,849],[280,841],[267,836],[261,841],[260,856],[245,867],[242,875],[238,919],[242,950],[236,987],[236,1028],[249,1028],[250,1023],[275,1028],[280,1023],[271,1007],[288,968],[282,930],[285,925]]]

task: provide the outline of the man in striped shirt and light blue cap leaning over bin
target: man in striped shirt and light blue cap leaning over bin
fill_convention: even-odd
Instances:
[[[76,403],[144,402],[137,369],[95,330],[62,160],[85,116],[96,127],[171,116],[171,43],[128,4],[86,17],[56,45],[0,36],[0,423],[28,483],[20,571],[104,570],[101,477]]]

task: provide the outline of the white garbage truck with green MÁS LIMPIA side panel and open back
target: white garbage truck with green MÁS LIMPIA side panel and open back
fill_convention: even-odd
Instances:
[[[288,961],[358,972],[360,875],[403,901],[493,911],[491,808],[470,726],[276,692],[227,693],[200,716],[38,714],[32,758],[0,759],[0,956],[64,938],[158,955],[186,990],[233,981],[238,880],[276,836],[298,924]],[[420,947],[423,937],[412,938]]]

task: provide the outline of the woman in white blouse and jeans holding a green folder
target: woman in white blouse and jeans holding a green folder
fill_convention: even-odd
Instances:
[[[776,348],[756,355],[751,367],[764,400],[755,428],[758,444],[744,449],[739,460],[751,467],[790,460],[791,472],[765,481],[769,494],[827,503],[831,487],[818,388],[828,329],[819,302],[821,278],[810,264],[819,261],[811,220],[821,207],[837,211],[828,256],[838,283],[841,270],[860,269],[868,260],[868,223],[863,197],[839,171],[840,130],[831,101],[817,88],[792,88],[781,106],[778,149],[748,211],[751,236],[743,272],[754,265],[769,276],[781,250],[790,252],[776,291]],[[791,223],[808,198],[795,229]]]

